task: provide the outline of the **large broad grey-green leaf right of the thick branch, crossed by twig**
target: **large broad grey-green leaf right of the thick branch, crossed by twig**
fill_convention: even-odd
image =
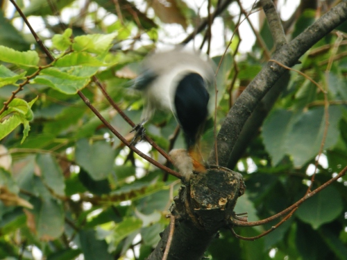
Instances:
[[[338,123],[341,109],[330,106],[329,127],[324,148],[335,145],[339,137]],[[264,145],[273,159],[273,165],[285,154],[293,157],[294,165],[300,167],[318,154],[325,129],[325,115],[322,107],[303,113],[273,111],[266,118],[262,129]]]

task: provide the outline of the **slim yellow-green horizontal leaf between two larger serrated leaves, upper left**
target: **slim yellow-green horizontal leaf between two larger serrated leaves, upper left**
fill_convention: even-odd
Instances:
[[[56,63],[54,63],[54,65],[56,67],[71,67],[78,65],[101,67],[107,66],[108,64],[98,60],[97,58],[92,56],[92,54],[87,54],[85,52],[73,52],[71,54],[62,56],[62,58],[56,60]]]

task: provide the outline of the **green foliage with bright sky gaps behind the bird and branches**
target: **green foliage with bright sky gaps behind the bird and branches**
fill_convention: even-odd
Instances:
[[[166,215],[180,181],[125,147],[76,91],[83,89],[101,115],[131,140],[131,127],[110,106],[92,76],[137,123],[142,100],[128,82],[139,71],[141,60],[155,48],[187,43],[210,53],[217,65],[223,58],[217,75],[219,129],[235,99],[273,51],[260,4],[251,9],[249,1],[243,2],[16,1],[58,58],[52,64],[12,3],[0,1],[1,104],[20,88],[9,105],[10,113],[1,115],[0,259],[148,257],[160,231],[169,224]],[[335,2],[298,3],[283,21],[287,39],[303,32]],[[285,3],[294,5],[294,1],[280,1],[280,13],[287,13]],[[251,13],[258,18],[251,15],[250,19]],[[211,30],[209,17],[214,19]],[[252,24],[249,38],[240,36],[241,23]],[[313,188],[347,165],[346,33],[345,22],[301,58],[295,69],[307,76],[291,71],[280,81],[280,96],[235,157],[232,168],[244,174],[247,186],[235,211],[248,212],[248,220],[269,217],[299,200],[315,171]],[[76,39],[74,45],[70,36]],[[245,51],[250,43],[253,46]],[[26,52],[21,56],[13,50]],[[308,76],[327,92],[326,97]],[[11,115],[20,118],[18,127],[13,125],[7,134],[4,127]],[[211,117],[203,135],[206,158],[214,143],[213,124]],[[172,116],[157,113],[146,125],[146,133],[165,150],[183,147],[181,136],[171,139],[175,128]],[[147,143],[137,147],[165,163]],[[347,259],[346,186],[347,178],[339,179],[257,241],[242,241],[221,230],[206,257]],[[255,236],[271,225],[236,231]]]

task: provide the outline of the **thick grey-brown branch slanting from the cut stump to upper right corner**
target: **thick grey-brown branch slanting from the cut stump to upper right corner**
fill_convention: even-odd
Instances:
[[[291,67],[298,62],[305,52],[325,35],[330,33],[339,24],[347,19],[347,2],[343,1],[325,13],[312,26],[298,35],[288,44],[283,45],[273,53],[272,59]],[[209,163],[215,163],[215,154],[219,156],[219,165],[226,166],[230,160],[230,154],[235,147],[239,134],[251,113],[257,107],[260,100],[266,95],[272,86],[280,79],[285,68],[269,62],[255,79],[248,85],[246,90],[237,99],[235,105],[230,109],[226,120],[221,126],[217,136],[217,151],[210,154]]]

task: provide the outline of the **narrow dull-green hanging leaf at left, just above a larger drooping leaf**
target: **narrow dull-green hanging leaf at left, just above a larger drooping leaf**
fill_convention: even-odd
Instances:
[[[51,188],[56,195],[65,195],[65,182],[58,163],[50,154],[37,154],[36,163],[40,168],[44,183]]]

